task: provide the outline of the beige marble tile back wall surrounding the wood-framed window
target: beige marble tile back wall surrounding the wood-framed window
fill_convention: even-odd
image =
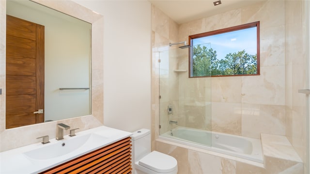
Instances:
[[[260,75],[199,78],[196,84],[192,83],[192,78],[179,78],[180,101],[201,101],[201,96],[207,98],[210,88],[206,87],[206,83],[211,84],[212,131],[252,138],[260,138],[260,133],[285,135],[284,1],[264,1],[181,24],[179,38],[188,40],[189,35],[255,21],[260,21]],[[184,57],[183,61],[186,60],[187,57]],[[183,69],[188,67],[188,63],[179,66]],[[198,86],[192,89],[188,84]],[[193,93],[186,99],[183,94],[191,91]],[[180,108],[185,106],[180,105]],[[185,117],[191,119],[186,119],[186,126],[192,127],[202,122],[196,112],[197,108],[187,111]]]

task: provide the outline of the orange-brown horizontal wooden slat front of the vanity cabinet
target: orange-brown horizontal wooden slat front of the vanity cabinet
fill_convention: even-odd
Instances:
[[[130,139],[124,138],[40,174],[131,174]]]

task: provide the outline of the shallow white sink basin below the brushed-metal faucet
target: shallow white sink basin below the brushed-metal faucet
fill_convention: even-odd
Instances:
[[[106,139],[107,138],[94,133],[76,135],[75,137],[69,137],[57,141],[54,144],[46,144],[41,148],[25,152],[24,155],[32,160],[50,160],[52,158],[78,151],[86,146],[102,144]]]

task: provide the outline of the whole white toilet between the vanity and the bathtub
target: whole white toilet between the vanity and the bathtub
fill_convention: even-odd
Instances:
[[[151,131],[140,129],[132,132],[133,174],[177,174],[178,163],[175,158],[151,152]]]

